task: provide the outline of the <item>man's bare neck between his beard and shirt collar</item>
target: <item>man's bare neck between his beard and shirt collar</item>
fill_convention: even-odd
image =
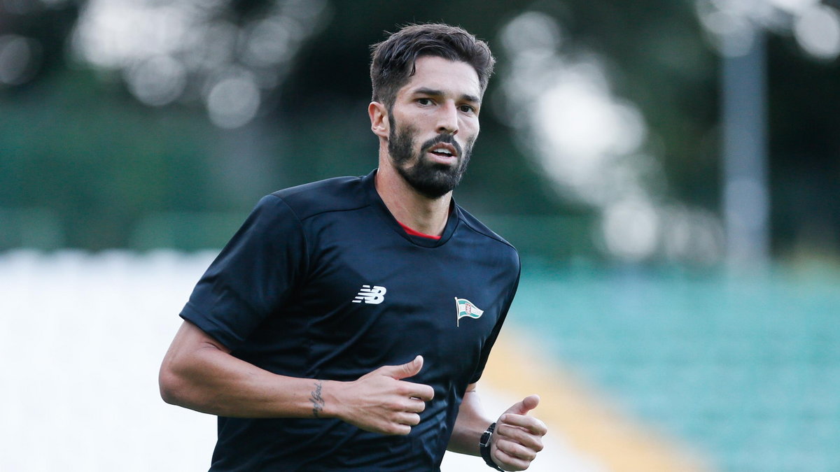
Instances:
[[[380,159],[376,171],[376,191],[396,221],[420,233],[439,236],[444,233],[449,218],[452,192],[439,198],[429,198],[417,192],[386,159]]]

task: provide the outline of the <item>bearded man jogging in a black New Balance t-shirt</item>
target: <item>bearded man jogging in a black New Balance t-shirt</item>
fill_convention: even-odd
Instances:
[[[160,370],[218,415],[211,470],[439,470],[446,449],[527,469],[528,396],[491,427],[476,382],[519,280],[516,250],[452,201],[493,58],[444,24],[375,45],[379,168],[260,200],[198,282]]]

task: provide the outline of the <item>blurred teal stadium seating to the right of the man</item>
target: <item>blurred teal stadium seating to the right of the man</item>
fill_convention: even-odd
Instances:
[[[840,470],[840,273],[524,265],[513,313],[723,472]]]

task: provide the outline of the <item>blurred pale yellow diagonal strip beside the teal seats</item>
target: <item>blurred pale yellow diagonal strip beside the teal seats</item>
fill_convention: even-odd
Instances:
[[[536,393],[533,411],[570,446],[595,457],[612,472],[710,472],[698,454],[617,412],[538,353],[538,345],[510,327],[502,330],[481,382],[508,395]]]

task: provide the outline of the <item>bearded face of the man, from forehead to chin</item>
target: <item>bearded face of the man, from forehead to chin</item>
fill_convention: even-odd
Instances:
[[[388,154],[397,172],[425,197],[458,185],[479,132],[480,85],[465,62],[423,56],[388,114]]]

